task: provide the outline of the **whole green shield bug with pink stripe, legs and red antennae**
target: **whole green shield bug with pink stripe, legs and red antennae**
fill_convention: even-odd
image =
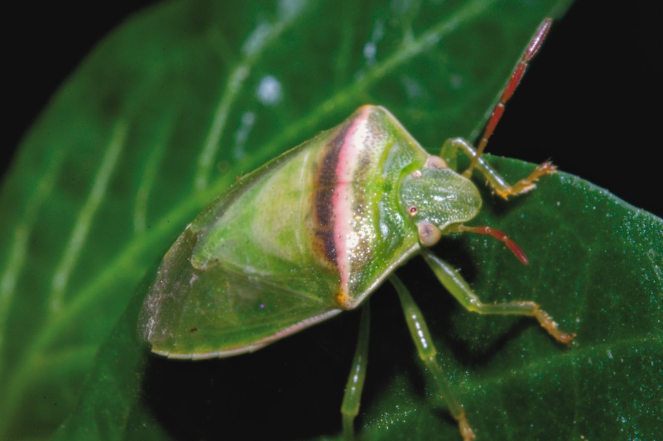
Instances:
[[[464,223],[479,213],[482,203],[470,181],[474,170],[504,198],[532,190],[539,177],[555,172],[545,162],[510,185],[481,157],[549,28],[546,19],[530,41],[477,148],[456,138],[446,141],[441,156],[429,155],[390,112],[362,106],[339,126],[240,179],[166,253],[140,313],[141,339],[153,353],[174,359],[249,353],[360,306],[389,280],[463,440],[474,439],[436,359],[421,311],[394,271],[422,255],[468,310],[532,316],[560,342],[569,344],[575,337],[558,329],[535,302],[483,304],[454,268],[427,250],[450,233],[481,233],[501,240],[527,263],[505,234]],[[471,158],[463,173],[445,160],[459,149]],[[341,406],[348,439],[365,378],[368,329],[366,306]]]

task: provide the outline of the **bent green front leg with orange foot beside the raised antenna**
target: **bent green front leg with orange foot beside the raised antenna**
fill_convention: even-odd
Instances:
[[[444,146],[442,146],[441,157],[453,166],[455,163],[454,158],[456,157],[457,151],[459,149],[463,150],[463,153],[465,153],[465,155],[470,158],[473,158],[475,155],[477,155],[477,150],[474,150],[474,146],[472,146],[472,144],[470,144],[468,141],[465,141],[463,138],[452,138],[447,139],[447,141],[444,143]],[[555,173],[555,170],[557,170],[552,162],[546,161],[543,164],[537,166],[537,168],[535,168],[534,171],[530,173],[530,175],[525,179],[521,179],[515,184],[509,184],[503,177],[501,177],[501,175],[499,175],[499,173],[497,173],[497,170],[488,164],[488,161],[486,161],[486,159],[483,157],[479,157],[479,159],[477,159],[476,168],[479,170],[479,172],[481,172],[483,177],[486,178],[488,184],[490,184],[492,189],[495,190],[495,193],[504,199],[509,196],[520,195],[521,193],[526,193],[529,190],[532,190],[532,188],[535,188],[534,183],[537,182],[539,177],[548,173]]]

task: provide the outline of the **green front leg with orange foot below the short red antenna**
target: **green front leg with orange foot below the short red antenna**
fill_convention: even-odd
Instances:
[[[435,273],[441,284],[456,297],[468,311],[479,314],[496,315],[528,315],[535,317],[541,326],[548,331],[556,340],[564,344],[570,344],[575,337],[575,333],[566,333],[557,327],[557,323],[550,317],[546,311],[541,309],[536,302],[506,302],[497,304],[484,304],[479,297],[472,291],[468,282],[449,264],[428,251],[422,249],[421,254],[426,263]]]

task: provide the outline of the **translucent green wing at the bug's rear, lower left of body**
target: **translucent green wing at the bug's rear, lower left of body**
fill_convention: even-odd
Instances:
[[[139,332],[159,355],[251,352],[340,313],[316,297],[222,264],[200,271],[189,261],[194,245],[187,229],[164,257],[140,314]]]

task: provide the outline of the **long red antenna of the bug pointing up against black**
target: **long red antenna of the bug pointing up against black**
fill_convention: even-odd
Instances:
[[[470,166],[468,166],[468,169],[463,172],[463,176],[472,176],[472,170],[474,169],[474,166],[477,166],[479,157],[481,157],[483,149],[486,148],[486,145],[488,144],[488,139],[490,139],[492,133],[495,131],[497,123],[499,123],[499,120],[504,113],[507,101],[511,99],[513,92],[515,92],[516,88],[520,84],[520,80],[523,78],[523,75],[525,75],[527,64],[536,55],[539,48],[541,47],[541,43],[543,43],[544,39],[546,39],[546,35],[548,35],[548,30],[550,30],[550,25],[552,23],[552,19],[545,19],[542,21],[539,25],[539,28],[537,29],[537,32],[535,32],[534,37],[532,37],[527,45],[527,48],[525,48],[523,56],[516,65],[516,68],[511,73],[509,82],[506,84],[504,90],[502,90],[499,103],[497,103],[495,108],[492,110],[492,115],[490,115],[490,119],[488,119],[488,124],[486,124],[486,128],[483,129],[483,134],[481,134],[481,139],[479,139],[477,154],[471,157],[472,160],[470,161]]]

